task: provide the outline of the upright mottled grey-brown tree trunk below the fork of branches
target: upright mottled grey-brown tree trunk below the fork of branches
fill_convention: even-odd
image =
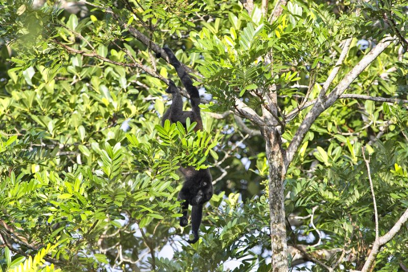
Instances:
[[[286,242],[284,208],[284,161],[281,135],[276,128],[266,127],[266,155],[269,164],[269,211],[272,241],[272,267],[275,272],[288,271],[288,245]]]

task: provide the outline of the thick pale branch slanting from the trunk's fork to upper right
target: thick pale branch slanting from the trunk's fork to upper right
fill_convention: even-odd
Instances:
[[[319,115],[333,105],[340,95],[350,86],[350,84],[356,79],[368,65],[370,65],[379,54],[381,54],[392,43],[391,37],[387,36],[382,39],[372,50],[368,53],[357,65],[354,66],[351,71],[339,82],[339,84],[331,91],[328,96],[319,96],[313,108],[306,114],[301,125],[296,131],[295,136],[289,144],[286,150],[285,166],[286,168],[292,162],[293,157],[303,141],[304,135],[309,131],[313,122]]]

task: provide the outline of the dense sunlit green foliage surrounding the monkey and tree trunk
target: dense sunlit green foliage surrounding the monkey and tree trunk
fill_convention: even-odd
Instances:
[[[45,261],[64,271],[271,270],[265,142],[236,103],[261,115],[277,88],[288,147],[350,37],[334,86],[389,35],[395,41],[346,93],[400,100],[341,98],[306,134],[284,183],[290,267],[364,265],[375,220],[362,146],[380,235],[408,208],[403,1],[294,1],[274,21],[261,1],[249,14],[224,0],[0,3],[2,269],[39,254],[45,270],[54,269]],[[203,131],[161,125],[164,81],[180,81],[156,44],[205,87]],[[215,181],[193,245],[177,220],[180,165],[211,167]],[[404,225],[375,269],[408,266],[407,245]]]

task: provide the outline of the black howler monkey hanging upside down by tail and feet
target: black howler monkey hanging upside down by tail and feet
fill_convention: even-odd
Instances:
[[[200,108],[198,107],[200,104],[198,90],[193,85],[190,76],[181,65],[180,61],[174,56],[174,53],[170,50],[170,48],[164,47],[163,50],[167,53],[170,64],[174,66],[177,75],[190,95],[191,111],[183,111],[183,101],[179,89],[177,89],[174,83],[169,80],[169,87],[167,88],[166,92],[172,94],[173,102],[170,108],[163,115],[162,122],[167,119],[169,119],[171,123],[179,121],[184,127],[186,127],[186,119],[189,117],[191,122],[197,122],[194,130],[200,130],[202,129],[202,120]],[[184,200],[184,203],[182,204],[183,216],[180,217],[180,226],[187,226],[188,205],[191,205],[191,229],[194,239],[188,240],[187,242],[195,243],[198,241],[198,229],[200,227],[202,218],[202,205],[211,199],[214,192],[212,184],[213,179],[208,168],[196,170],[193,167],[180,167],[180,170],[185,177],[183,187],[179,192],[179,196],[177,197],[179,201]]]

